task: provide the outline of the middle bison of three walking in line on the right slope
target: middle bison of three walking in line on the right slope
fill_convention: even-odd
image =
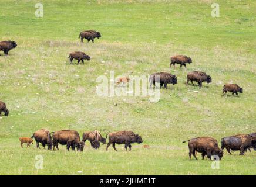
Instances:
[[[196,82],[198,82],[198,85],[201,87],[202,82],[205,82],[205,81],[207,83],[211,82],[211,76],[206,75],[206,73],[202,72],[202,71],[193,71],[193,72],[189,72],[187,74],[187,84],[189,81],[193,84],[193,86],[194,86],[193,81],[196,81]]]

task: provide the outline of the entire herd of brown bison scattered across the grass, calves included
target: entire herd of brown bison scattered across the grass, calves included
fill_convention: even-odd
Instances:
[[[82,42],[83,39],[87,39],[88,42],[92,40],[92,42],[94,43],[94,39],[99,39],[100,37],[100,32],[96,32],[95,30],[86,30],[80,32],[79,34],[79,38]],[[11,49],[14,49],[15,47],[17,47],[15,41],[0,42],[0,51],[4,51],[5,56],[8,56],[9,51]],[[84,60],[90,60],[89,55],[80,51],[71,52],[68,58],[70,59],[70,64],[73,64],[74,58],[78,60],[78,64],[80,63],[80,61],[82,61],[82,63],[84,64]],[[183,66],[186,68],[186,64],[191,63],[191,58],[184,55],[171,56],[170,58],[170,68],[171,65],[175,67],[175,64],[180,64],[180,68]],[[123,80],[122,78],[121,81],[128,82],[129,78],[125,78],[125,80]],[[150,75],[149,81],[150,88],[152,84],[155,85],[155,82],[159,82],[160,88],[164,85],[164,88],[167,89],[167,84],[177,84],[177,77],[176,75],[171,75],[168,72],[157,72]],[[211,76],[201,71],[189,72],[187,74],[187,84],[188,82],[191,82],[191,84],[193,84],[194,86],[193,81],[198,82],[198,85],[201,87],[202,82],[211,82]],[[231,92],[232,95],[234,95],[235,93],[238,96],[238,92],[242,93],[242,88],[240,88],[240,86],[238,86],[237,84],[225,84],[223,88],[223,95],[227,92]],[[5,103],[0,101],[0,115],[2,115],[2,113],[4,113],[5,116],[8,116],[9,110],[6,108]],[[107,136],[109,142],[107,143],[106,150],[112,144],[114,150],[117,151],[116,144],[124,144],[124,147],[127,151],[128,147],[129,150],[131,150],[132,143],[140,144],[143,142],[142,137],[139,136],[139,134],[133,133],[132,131],[117,131],[107,134],[106,138]],[[35,131],[32,137],[20,137],[19,140],[21,141],[21,147],[23,147],[23,143],[27,144],[28,147],[29,144],[33,143],[33,138],[35,138],[37,148],[40,148],[39,143],[41,143],[44,148],[47,145],[48,150],[55,150],[55,147],[57,148],[57,150],[59,150],[58,144],[61,144],[66,145],[66,148],[68,150],[71,147],[72,150],[75,150],[76,148],[78,151],[83,151],[86,140],[89,140],[90,145],[95,149],[100,148],[100,143],[106,144],[106,138],[102,137],[102,134],[100,134],[100,132],[97,130],[85,131],[82,137],[83,138],[81,141],[79,133],[75,130],[60,130],[50,133],[50,131],[47,129],[41,129]],[[191,155],[193,155],[194,158],[197,159],[196,151],[198,153],[201,153],[203,159],[206,156],[207,158],[212,159],[213,155],[217,155],[218,158],[221,160],[221,158],[223,157],[224,148],[226,148],[228,153],[230,154],[230,150],[240,150],[240,155],[244,155],[245,151],[247,150],[251,152],[250,148],[256,150],[256,133],[238,134],[235,136],[221,138],[221,148],[218,147],[217,140],[211,137],[197,137],[187,141],[190,159]],[[183,141],[183,143],[187,141]],[[149,148],[149,145],[144,145],[143,147]]]

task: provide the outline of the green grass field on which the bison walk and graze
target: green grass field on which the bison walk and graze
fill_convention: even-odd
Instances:
[[[211,16],[211,0],[186,1],[38,1],[0,0],[0,41],[18,47],[0,56],[0,100],[10,110],[0,116],[1,175],[255,175],[256,151],[239,156],[224,151],[220,169],[210,160],[189,160],[188,140],[256,131],[256,1],[217,1],[220,17]],[[80,43],[82,30],[102,34]],[[85,65],[69,64],[70,51],[85,51]],[[192,64],[169,68],[169,58],[186,54]],[[161,89],[160,101],[149,96],[102,97],[100,75],[150,75],[166,71],[178,84]],[[211,84],[186,86],[190,71],[205,71]],[[240,97],[221,96],[223,85],[244,89]],[[197,91],[197,92],[195,92]],[[114,106],[117,103],[117,106]],[[132,151],[106,145],[82,153],[19,146],[19,137],[50,131],[99,130],[103,136],[132,130],[143,138]],[[41,146],[42,147],[42,146]],[[36,169],[36,155],[43,169]],[[82,171],[78,172],[78,171]]]

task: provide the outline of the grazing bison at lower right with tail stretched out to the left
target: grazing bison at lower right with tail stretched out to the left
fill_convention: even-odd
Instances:
[[[196,158],[196,151],[202,153],[202,157],[207,155],[208,158],[211,159],[211,156],[217,155],[221,160],[223,157],[223,150],[218,147],[218,142],[214,138],[211,137],[197,137],[188,141],[189,148],[189,158],[191,159],[191,154],[193,154],[194,158]],[[182,143],[185,143],[183,141]]]

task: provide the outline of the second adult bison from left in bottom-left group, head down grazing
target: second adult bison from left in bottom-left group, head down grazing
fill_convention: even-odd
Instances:
[[[83,151],[83,147],[85,143],[80,141],[80,136],[77,131],[75,130],[60,130],[52,132],[53,138],[53,150],[55,147],[59,150],[58,144],[67,145],[67,150],[71,147],[73,151],[77,148],[78,151]],[[51,133],[51,134],[52,134]]]

